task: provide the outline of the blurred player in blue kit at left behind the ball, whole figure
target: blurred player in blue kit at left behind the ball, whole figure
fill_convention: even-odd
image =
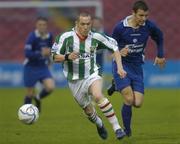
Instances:
[[[45,17],[38,17],[36,29],[29,34],[25,44],[24,85],[27,92],[24,103],[31,103],[34,98],[39,111],[41,99],[54,89],[54,80],[48,67],[53,37],[47,28],[48,20]],[[43,89],[36,94],[35,85],[38,82],[42,83]]]

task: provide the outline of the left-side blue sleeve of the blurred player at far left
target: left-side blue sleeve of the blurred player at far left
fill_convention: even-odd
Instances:
[[[37,59],[41,57],[40,51],[33,50],[34,41],[35,41],[35,36],[33,35],[33,33],[31,33],[27,38],[24,48],[25,56],[30,59]]]

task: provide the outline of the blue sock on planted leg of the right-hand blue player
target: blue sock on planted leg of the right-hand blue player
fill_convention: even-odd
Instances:
[[[123,104],[121,109],[123,124],[127,132],[131,131],[132,106]]]

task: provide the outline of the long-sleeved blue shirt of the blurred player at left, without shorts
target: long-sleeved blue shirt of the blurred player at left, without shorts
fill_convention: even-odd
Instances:
[[[49,58],[41,55],[42,48],[51,48],[53,37],[51,33],[47,33],[44,38],[40,37],[38,31],[31,32],[25,44],[25,65],[27,66],[45,66]]]

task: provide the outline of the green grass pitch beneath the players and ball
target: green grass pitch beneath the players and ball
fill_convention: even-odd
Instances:
[[[180,89],[147,89],[144,105],[133,109],[133,135],[115,139],[111,125],[101,140],[96,127],[83,114],[69,89],[56,89],[42,101],[42,113],[33,125],[17,118],[25,90],[0,89],[0,144],[180,144]],[[121,121],[121,96],[109,97]]]

